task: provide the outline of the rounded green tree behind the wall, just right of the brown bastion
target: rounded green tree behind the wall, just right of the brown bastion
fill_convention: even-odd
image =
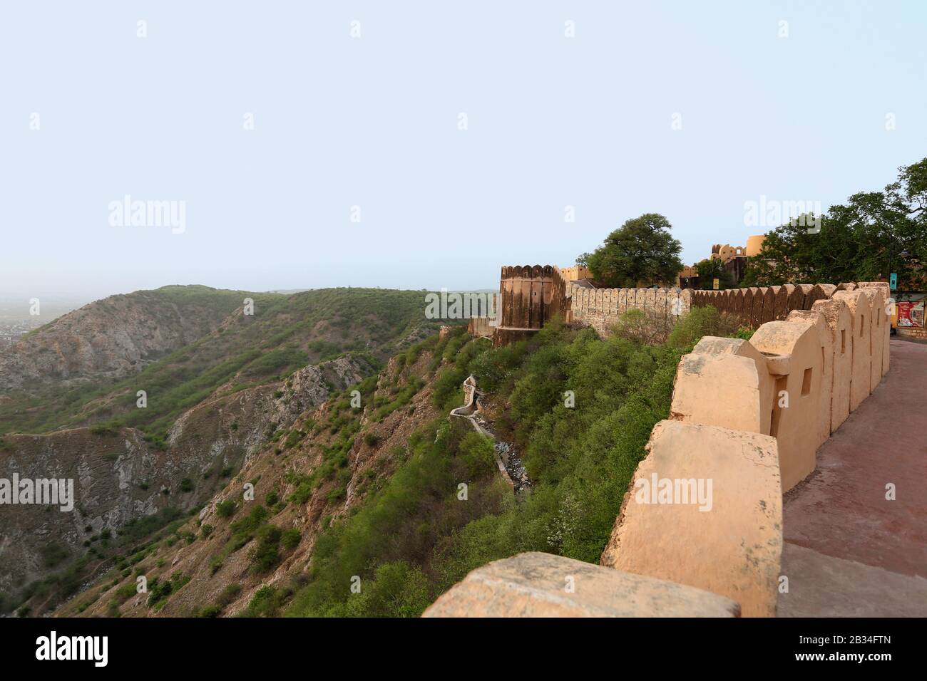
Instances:
[[[662,215],[646,213],[625,222],[602,246],[583,253],[577,261],[589,267],[596,282],[606,286],[672,283],[682,269],[682,246],[671,229]]]

